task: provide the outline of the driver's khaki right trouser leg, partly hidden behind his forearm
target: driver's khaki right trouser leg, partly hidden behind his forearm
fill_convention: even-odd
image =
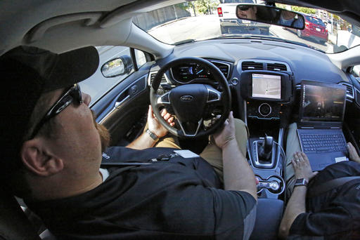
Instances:
[[[246,156],[246,146],[248,143],[249,131],[248,127],[240,119],[234,119],[236,141],[240,152]],[[215,145],[214,138],[210,138],[209,144],[205,147],[200,156],[205,159],[215,170],[221,182],[224,179],[223,165],[222,165],[222,152],[217,145]]]

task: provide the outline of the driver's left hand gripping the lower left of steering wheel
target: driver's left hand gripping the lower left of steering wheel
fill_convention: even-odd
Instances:
[[[170,126],[175,125],[174,116],[172,116],[172,114],[169,114],[166,109],[162,109],[160,114],[165,119],[165,121],[169,123]],[[153,113],[153,107],[151,107],[151,105],[149,105],[148,109],[148,128],[150,131],[155,133],[158,138],[162,138],[167,135],[167,129],[160,124],[160,122]]]

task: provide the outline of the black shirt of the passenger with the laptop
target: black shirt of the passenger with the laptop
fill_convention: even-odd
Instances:
[[[309,186],[335,178],[360,176],[360,164],[345,161],[325,168]],[[352,180],[326,194],[307,198],[307,213],[295,218],[288,239],[360,239],[360,180]]]

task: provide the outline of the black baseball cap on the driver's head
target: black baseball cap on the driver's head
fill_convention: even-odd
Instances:
[[[0,57],[0,169],[6,178],[21,166],[20,149],[42,93],[89,78],[98,68],[93,46],[52,53],[18,46]]]

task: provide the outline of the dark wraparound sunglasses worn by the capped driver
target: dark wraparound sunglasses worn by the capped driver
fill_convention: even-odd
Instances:
[[[63,111],[63,109],[68,107],[72,102],[77,103],[77,105],[82,104],[82,91],[80,90],[80,86],[77,84],[74,84],[64,91],[60,98],[53,104],[49,111],[46,112],[45,116],[34,127],[34,131],[32,132],[32,135],[29,139],[34,138],[47,121]]]

